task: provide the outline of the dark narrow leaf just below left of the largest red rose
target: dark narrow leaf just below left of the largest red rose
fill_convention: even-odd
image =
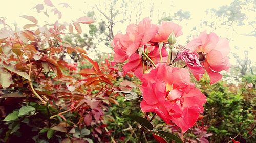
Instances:
[[[123,115],[132,119],[132,120],[134,120],[134,121],[136,121],[137,123],[139,123],[141,126],[145,127],[148,130],[153,130],[154,129],[154,127],[150,123],[150,121],[148,121],[145,118],[142,118],[142,117],[137,116],[137,115],[125,115],[125,114],[123,114]]]

